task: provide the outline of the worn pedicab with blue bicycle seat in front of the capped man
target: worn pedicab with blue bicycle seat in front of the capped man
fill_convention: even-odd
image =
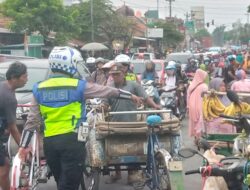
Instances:
[[[170,110],[109,112],[106,118],[115,114],[137,114],[138,121],[110,122],[93,114],[86,143],[87,189],[98,190],[100,175],[110,175],[115,166],[120,171],[136,166],[141,178],[134,189],[184,189],[179,119]]]

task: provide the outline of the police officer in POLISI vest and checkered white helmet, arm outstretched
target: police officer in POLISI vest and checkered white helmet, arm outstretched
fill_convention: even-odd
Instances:
[[[44,124],[44,153],[58,189],[78,189],[82,178],[85,142],[78,141],[77,131],[86,121],[85,100],[118,97],[141,103],[128,91],[73,78],[82,62],[80,52],[74,48],[52,50],[51,77],[33,87],[32,107],[20,143],[19,155],[24,159],[33,131]]]

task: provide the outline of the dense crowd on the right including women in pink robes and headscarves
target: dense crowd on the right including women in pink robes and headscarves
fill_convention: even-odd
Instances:
[[[189,110],[189,135],[194,137],[195,143],[203,133],[236,132],[235,126],[223,122],[222,118],[216,114],[204,117],[204,112],[208,107],[207,104],[204,104],[204,96],[208,96],[205,95],[208,90],[250,93],[250,80],[247,78],[249,64],[250,52],[247,51],[222,53],[210,57],[201,55],[197,60],[190,60],[186,71],[193,72],[194,77],[187,91],[187,107]],[[248,108],[237,109],[238,107],[233,107],[234,104],[226,95],[216,95],[216,97],[220,101],[218,104],[222,104],[221,113],[237,115],[240,114],[239,112],[245,112],[249,114]],[[243,97],[241,101],[249,103],[248,99],[248,97]],[[193,102],[196,103],[193,104]],[[244,104],[244,106],[248,105]],[[230,111],[227,111],[229,109]]]

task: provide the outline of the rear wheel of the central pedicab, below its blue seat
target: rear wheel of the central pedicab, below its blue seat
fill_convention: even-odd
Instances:
[[[159,190],[171,190],[170,175],[165,156],[161,152],[155,154],[155,169]]]

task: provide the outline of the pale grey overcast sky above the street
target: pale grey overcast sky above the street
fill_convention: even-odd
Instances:
[[[124,3],[134,10],[153,10],[157,7],[157,0],[110,0],[115,6],[121,6]],[[204,6],[205,22],[211,22],[214,19],[215,26],[224,24],[230,29],[232,23],[240,19],[241,23],[247,23],[247,7],[250,0],[175,0],[172,3],[172,16],[184,19],[186,12],[190,13],[192,6]],[[169,16],[169,2],[159,0],[160,17]],[[250,19],[250,15],[249,15]],[[211,31],[214,27],[210,27]]]

